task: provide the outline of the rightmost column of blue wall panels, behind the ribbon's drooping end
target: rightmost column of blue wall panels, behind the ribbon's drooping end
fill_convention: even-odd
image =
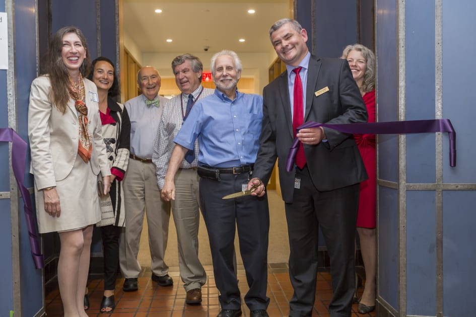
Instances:
[[[443,0],[443,117],[456,130],[457,166],[449,167],[448,140],[443,138],[445,183],[476,184],[474,157],[474,70],[476,47],[472,0]],[[476,191],[443,192],[443,314],[473,315],[476,285]]]

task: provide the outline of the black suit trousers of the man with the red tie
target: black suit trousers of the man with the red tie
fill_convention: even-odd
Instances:
[[[286,204],[289,234],[289,275],[294,288],[290,317],[311,316],[316,297],[318,227],[330,258],[333,297],[331,317],[351,316],[355,291],[354,239],[359,206],[359,184],[319,192],[307,166],[297,170],[301,180],[293,203]]]

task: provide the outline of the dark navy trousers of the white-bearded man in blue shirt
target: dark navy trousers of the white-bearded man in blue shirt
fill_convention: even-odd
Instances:
[[[244,299],[250,310],[266,309],[269,209],[266,195],[222,199],[248,183],[248,173],[221,174],[221,181],[200,178],[200,208],[212,251],[215,283],[223,309],[239,309],[241,296],[233,266],[235,231],[249,291]],[[236,225],[235,225],[236,224]]]

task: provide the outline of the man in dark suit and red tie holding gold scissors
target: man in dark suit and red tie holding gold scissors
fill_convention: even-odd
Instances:
[[[307,32],[297,21],[276,22],[269,36],[287,71],[263,90],[255,178],[248,188],[257,183],[256,178],[267,184],[279,158],[291,251],[289,273],[294,288],[290,317],[312,315],[318,226],[330,257],[330,315],[350,316],[355,291],[359,183],[367,179],[367,173],[351,134],[322,127],[301,129],[295,134],[295,128],[307,121],[366,122],[367,111],[347,61],[311,55],[306,46]],[[302,149],[298,151],[295,169],[287,172],[286,157],[295,136]],[[260,185],[253,195],[263,194],[264,186]]]

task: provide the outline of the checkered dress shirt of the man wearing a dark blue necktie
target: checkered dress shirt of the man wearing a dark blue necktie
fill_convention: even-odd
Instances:
[[[202,86],[200,85],[193,93],[193,100],[196,101]],[[203,92],[198,97],[198,100],[205,98],[207,96],[213,95],[215,90],[209,88],[203,88]],[[182,102],[180,102],[180,99]],[[165,174],[167,173],[167,168],[169,166],[170,156],[174,149],[175,143],[173,142],[174,137],[177,135],[178,131],[182,127],[183,114],[185,114],[185,108],[187,106],[188,95],[180,94],[173,97],[164,106],[164,111],[162,112],[162,117],[159,123],[159,129],[157,130],[157,137],[154,144],[154,149],[152,152],[152,162],[156,167],[157,175],[157,184],[159,188],[162,189],[165,183]],[[181,109],[183,107],[183,109]],[[195,140],[195,160],[190,164],[187,161],[183,160],[182,169],[190,169],[197,166],[198,160],[198,141]]]

